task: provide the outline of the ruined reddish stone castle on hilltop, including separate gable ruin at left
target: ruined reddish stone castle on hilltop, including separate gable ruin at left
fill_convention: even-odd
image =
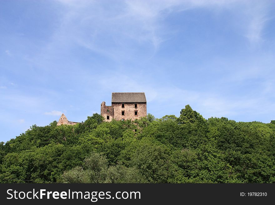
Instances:
[[[135,120],[147,115],[145,93],[112,93],[112,105],[108,106],[103,101],[101,103],[100,114],[105,121],[115,120]],[[78,122],[68,121],[67,117],[62,114],[57,125],[77,124]]]

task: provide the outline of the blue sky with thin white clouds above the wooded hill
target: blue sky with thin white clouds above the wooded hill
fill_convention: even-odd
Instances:
[[[0,141],[112,92],[156,118],[275,120],[275,1],[0,1]]]

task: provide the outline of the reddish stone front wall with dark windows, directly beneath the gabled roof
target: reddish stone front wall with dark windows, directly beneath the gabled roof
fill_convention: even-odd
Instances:
[[[123,103],[124,108],[122,107],[122,103],[112,103],[113,107],[113,116],[115,120],[135,120],[140,119],[141,117],[147,116],[147,106],[146,103]],[[135,108],[135,104],[137,104],[137,108]],[[124,115],[122,115],[122,111],[124,111]],[[138,111],[138,115],[135,115],[135,111]]]

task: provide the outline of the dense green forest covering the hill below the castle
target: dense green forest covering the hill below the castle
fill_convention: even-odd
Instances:
[[[0,143],[1,183],[274,183],[275,120],[179,117],[32,125]]]

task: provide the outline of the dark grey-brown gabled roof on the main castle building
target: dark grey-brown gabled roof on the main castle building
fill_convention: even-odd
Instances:
[[[112,102],[146,102],[145,93],[112,93]]]

